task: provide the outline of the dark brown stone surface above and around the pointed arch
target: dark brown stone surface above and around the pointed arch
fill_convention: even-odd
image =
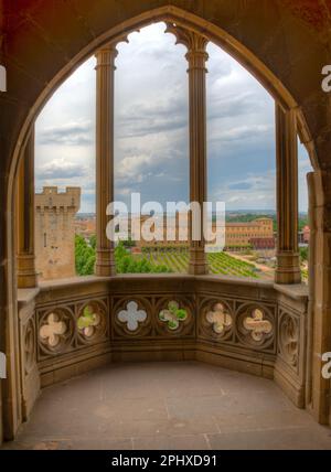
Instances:
[[[322,67],[331,62],[331,0],[0,0],[1,6],[0,63],[8,71],[8,92],[0,94],[2,175],[29,112],[54,92],[52,79],[64,67],[70,72],[79,52],[90,54],[88,45],[110,29],[120,31],[127,20],[169,6],[222,29],[261,61],[301,108],[319,165],[331,167],[331,94],[321,89]]]

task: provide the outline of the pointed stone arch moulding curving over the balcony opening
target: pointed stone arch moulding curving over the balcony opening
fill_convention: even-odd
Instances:
[[[306,120],[303,110],[300,107],[299,101],[295,95],[290,93],[290,89],[279,81],[277,75],[257,56],[255,55],[244,42],[238,41],[235,36],[227,33],[226,30],[207,22],[201,17],[180,9],[174,6],[160,7],[153,10],[149,10],[137,17],[129,18],[119,25],[116,25],[105,31],[99,36],[90,41],[85,47],[83,47],[74,57],[72,57],[64,67],[61,68],[47,83],[45,87],[41,87],[40,94],[36,100],[30,108],[17,139],[17,146],[13,150],[12,162],[10,169],[10,179],[13,179],[17,170],[17,161],[21,148],[26,142],[26,136],[29,135],[29,128],[33,122],[33,119],[39,115],[45,103],[50,99],[52,94],[58,88],[58,86],[77,68],[83,64],[97,49],[106,44],[107,42],[118,40],[121,36],[139,30],[140,28],[147,26],[148,24],[159,21],[171,21],[179,25],[196,31],[203,35],[206,35],[210,41],[217,44],[225,52],[227,52],[233,58],[239,62],[248,72],[250,72],[255,78],[269,92],[269,94],[278,101],[284,109],[297,108],[299,117],[299,132],[303,143],[307,146],[313,168],[319,168],[317,158],[317,149],[312,141],[312,135]]]

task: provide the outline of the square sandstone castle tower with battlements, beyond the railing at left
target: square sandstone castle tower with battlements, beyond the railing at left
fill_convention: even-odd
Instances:
[[[74,277],[74,217],[81,206],[81,189],[44,186],[35,194],[35,267],[40,280]]]

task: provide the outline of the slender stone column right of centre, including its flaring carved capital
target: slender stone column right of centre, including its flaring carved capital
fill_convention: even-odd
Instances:
[[[190,215],[190,262],[189,272],[203,275],[209,272],[203,235],[203,203],[206,201],[206,93],[205,76],[207,73],[206,45],[209,40],[193,31],[167,24],[167,32],[177,37],[178,44],[188,47],[185,55],[189,68],[189,114],[190,114],[190,202],[197,202],[201,207],[200,240],[193,240],[193,221]]]

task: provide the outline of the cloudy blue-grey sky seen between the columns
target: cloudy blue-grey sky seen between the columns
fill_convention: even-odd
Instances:
[[[157,23],[118,45],[115,82],[115,200],[189,201],[185,47]],[[209,200],[226,210],[275,210],[275,106],[235,60],[209,43]],[[95,58],[62,84],[41,111],[36,190],[82,186],[81,212],[95,212]],[[299,146],[299,208],[307,211],[310,162]]]

